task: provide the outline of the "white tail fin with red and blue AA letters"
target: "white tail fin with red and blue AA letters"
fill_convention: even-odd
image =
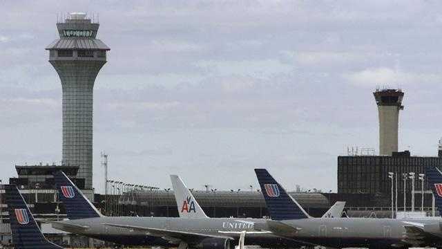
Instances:
[[[182,218],[209,218],[180,176],[171,175],[173,192],[177,201],[178,214]]]

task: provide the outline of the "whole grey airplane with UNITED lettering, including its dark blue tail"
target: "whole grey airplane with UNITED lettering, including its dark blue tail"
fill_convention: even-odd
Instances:
[[[180,249],[229,249],[241,240],[247,245],[267,248],[298,248],[305,245],[265,230],[266,219],[104,216],[66,174],[57,172],[54,177],[69,220],[41,222],[50,223],[57,230],[122,245]],[[256,225],[260,227],[259,230],[255,229]],[[243,234],[247,234],[247,237],[244,238]]]

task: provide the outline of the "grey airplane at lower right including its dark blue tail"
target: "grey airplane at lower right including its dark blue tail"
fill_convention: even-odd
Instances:
[[[313,218],[266,169],[255,173],[271,216],[266,229],[273,234],[332,248],[442,246],[441,219]],[[442,174],[438,181],[442,190]]]

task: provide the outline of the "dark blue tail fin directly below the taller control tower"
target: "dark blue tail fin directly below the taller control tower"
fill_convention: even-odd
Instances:
[[[75,184],[63,172],[54,174],[60,201],[64,203],[69,219],[100,217],[95,206],[84,196]]]

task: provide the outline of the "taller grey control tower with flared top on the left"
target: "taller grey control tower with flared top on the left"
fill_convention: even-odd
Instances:
[[[96,39],[98,27],[86,14],[70,13],[57,23],[60,38],[46,48],[63,90],[63,164],[79,166],[86,190],[92,189],[94,82],[111,50]]]

